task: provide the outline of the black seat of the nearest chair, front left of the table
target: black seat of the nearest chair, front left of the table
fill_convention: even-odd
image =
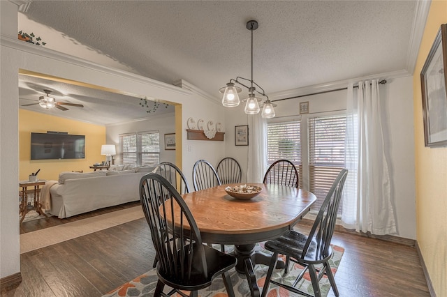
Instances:
[[[196,245],[197,243],[193,243]],[[188,246],[186,246],[186,250],[188,250]],[[226,271],[229,271],[231,268],[235,267],[237,264],[237,259],[233,256],[225,254],[223,252],[219,252],[219,250],[215,250],[214,248],[210,248],[207,245],[203,245],[205,250],[205,259],[207,263],[207,275],[203,275],[202,268],[194,267],[194,263],[199,263],[200,261],[196,260],[196,257],[200,257],[200,254],[193,253],[193,267],[191,269],[191,277],[186,279],[179,280],[177,278],[173,279],[170,277],[170,273],[165,275],[161,271],[159,271],[159,267],[157,266],[157,274],[159,275],[160,280],[167,284],[170,287],[175,287],[177,289],[182,289],[186,291],[191,290],[199,290],[206,287],[210,287],[212,280],[217,275],[221,275]],[[193,251],[197,251],[196,248],[193,248]],[[187,258],[186,258],[187,259]],[[186,260],[185,260],[186,261]],[[183,268],[186,270],[188,267],[187,263],[184,263]],[[181,270],[180,265],[177,265],[177,268]],[[186,271],[184,275],[187,275]]]

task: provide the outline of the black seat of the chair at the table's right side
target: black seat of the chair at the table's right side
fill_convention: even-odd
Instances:
[[[302,250],[305,248],[307,236],[297,231],[290,230],[281,237],[265,243],[265,248],[278,254],[293,257],[297,261],[305,264],[319,264],[332,256],[332,249],[328,249],[328,254],[321,254],[320,249],[316,248],[316,241],[313,240],[309,245],[309,250],[302,258]]]

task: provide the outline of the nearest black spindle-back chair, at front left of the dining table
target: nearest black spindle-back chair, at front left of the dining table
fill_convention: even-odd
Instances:
[[[154,296],[186,296],[180,290],[197,296],[217,275],[222,275],[228,296],[235,296],[228,271],[237,259],[203,245],[196,221],[173,185],[159,174],[146,174],[140,181],[140,200],[159,259]],[[165,285],[173,288],[168,294],[163,293]]]

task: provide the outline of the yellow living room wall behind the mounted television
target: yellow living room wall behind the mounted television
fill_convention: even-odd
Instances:
[[[68,134],[85,135],[85,159],[66,160],[30,160],[31,132],[45,133],[47,131],[68,132]],[[101,145],[105,144],[105,127],[50,116],[40,112],[19,110],[19,178],[28,179],[31,172],[41,171],[38,178],[57,180],[60,172],[89,172],[89,166],[105,160],[101,155]]]

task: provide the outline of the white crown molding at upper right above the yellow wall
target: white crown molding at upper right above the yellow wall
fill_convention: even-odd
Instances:
[[[406,54],[406,70],[409,73],[414,72],[416,67],[416,60],[418,59],[420,42],[422,41],[425,23],[427,22],[428,12],[430,10],[431,0],[416,1],[416,10],[413,17],[413,24],[411,24],[411,36]]]

